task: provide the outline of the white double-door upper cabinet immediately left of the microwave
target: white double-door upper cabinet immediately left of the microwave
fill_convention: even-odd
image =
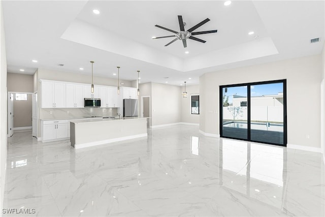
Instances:
[[[66,108],[84,107],[83,90],[82,84],[66,84]]]

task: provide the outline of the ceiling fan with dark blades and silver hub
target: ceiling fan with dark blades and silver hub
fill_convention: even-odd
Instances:
[[[183,41],[183,46],[184,48],[187,47],[187,44],[186,44],[186,39],[192,39],[192,40],[195,40],[195,41],[198,41],[198,42],[202,42],[202,43],[206,43],[206,41],[202,40],[202,39],[198,39],[196,37],[193,37],[195,35],[202,35],[202,34],[208,34],[208,33],[216,33],[217,30],[209,30],[209,31],[203,31],[203,32],[193,32],[193,30],[199,28],[201,25],[205,24],[206,22],[210,21],[209,18],[203,20],[202,22],[194,25],[193,27],[187,29],[185,31],[185,28],[184,28],[184,25],[186,23],[183,22],[183,18],[182,16],[178,15],[178,22],[179,22],[179,28],[180,28],[180,32],[176,32],[172,29],[169,29],[169,28],[165,28],[163,26],[160,26],[160,25],[155,25],[156,27],[158,28],[162,28],[162,29],[165,29],[169,32],[172,32],[172,33],[175,33],[176,35],[173,35],[173,36],[163,36],[163,37],[153,37],[152,39],[162,39],[162,38],[170,38],[170,37],[176,37],[176,39],[174,39],[173,41],[171,41],[170,43],[168,43],[166,46],[172,44],[173,42],[177,41],[177,39],[179,40],[182,40]]]

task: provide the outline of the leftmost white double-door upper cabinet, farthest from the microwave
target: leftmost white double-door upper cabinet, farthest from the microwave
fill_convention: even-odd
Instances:
[[[66,83],[42,81],[42,108],[66,108]]]

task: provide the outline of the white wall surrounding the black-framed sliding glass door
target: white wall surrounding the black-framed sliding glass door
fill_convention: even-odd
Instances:
[[[204,74],[200,130],[219,134],[219,85],[287,79],[287,142],[320,148],[321,63],[314,55]]]

